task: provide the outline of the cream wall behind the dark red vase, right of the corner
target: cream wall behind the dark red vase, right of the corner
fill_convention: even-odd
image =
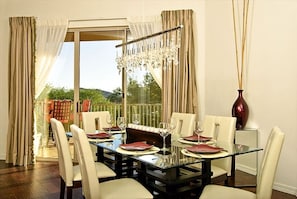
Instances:
[[[238,89],[231,1],[206,2],[205,112],[231,115]],[[275,188],[296,194],[297,1],[251,2],[253,22],[244,86],[250,109],[247,127],[259,129],[261,147],[274,125],[286,133]]]

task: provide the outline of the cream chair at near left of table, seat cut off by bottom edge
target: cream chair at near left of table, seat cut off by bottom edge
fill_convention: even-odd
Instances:
[[[99,182],[95,176],[96,168],[86,134],[76,125],[71,125],[74,144],[78,148],[78,161],[82,173],[83,194],[86,199],[111,198],[153,198],[152,194],[139,182],[132,178],[121,178],[107,182]]]

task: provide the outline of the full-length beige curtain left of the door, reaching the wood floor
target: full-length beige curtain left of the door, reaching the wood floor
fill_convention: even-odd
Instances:
[[[11,17],[6,162],[33,163],[35,18]]]

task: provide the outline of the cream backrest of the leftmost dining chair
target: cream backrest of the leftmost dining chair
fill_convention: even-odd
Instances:
[[[64,126],[55,118],[51,118],[50,121],[58,150],[60,176],[66,186],[73,186],[73,162]]]

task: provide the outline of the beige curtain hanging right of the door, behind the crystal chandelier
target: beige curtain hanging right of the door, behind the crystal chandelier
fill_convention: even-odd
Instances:
[[[193,11],[163,11],[163,30],[183,25],[181,29],[181,47],[179,65],[163,70],[162,108],[164,121],[172,112],[198,114],[195,49],[193,35]]]

